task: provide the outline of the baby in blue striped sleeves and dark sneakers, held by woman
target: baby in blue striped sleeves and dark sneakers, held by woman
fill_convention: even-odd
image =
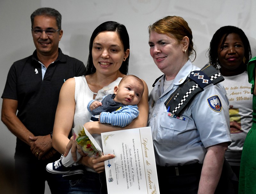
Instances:
[[[144,84],[140,78],[135,75],[126,75],[118,86],[115,86],[114,94],[105,96],[101,102],[91,100],[88,103],[87,109],[92,113],[91,121],[100,121],[100,123],[119,127],[129,125],[139,115],[137,104],[140,102],[143,92]],[[100,134],[102,132],[94,131],[93,133]],[[101,145],[101,139],[98,140],[98,143]],[[78,152],[76,154],[78,161],[81,155]],[[71,151],[66,157],[61,156],[54,163],[49,163],[46,170],[53,174],[63,174],[63,177],[66,178],[70,175],[84,173],[83,166],[73,161]]]

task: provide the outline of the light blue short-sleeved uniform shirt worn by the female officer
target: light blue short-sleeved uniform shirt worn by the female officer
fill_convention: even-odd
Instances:
[[[168,89],[164,91],[165,76],[162,76],[149,95],[148,126],[152,130],[156,165],[202,164],[207,147],[231,143],[228,98],[222,84],[206,86],[182,113],[186,120],[168,116],[164,102],[195,70],[200,68],[188,60]],[[215,95],[222,104],[220,112],[214,111],[207,101]]]

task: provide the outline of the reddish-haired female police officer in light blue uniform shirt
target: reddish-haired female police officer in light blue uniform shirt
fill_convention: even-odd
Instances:
[[[149,46],[164,73],[149,95],[148,117],[160,191],[214,193],[231,142],[223,78],[191,63],[192,32],[181,17],[150,25]]]

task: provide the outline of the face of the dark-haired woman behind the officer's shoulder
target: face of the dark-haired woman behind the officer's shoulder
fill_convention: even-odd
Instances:
[[[225,36],[225,35],[224,35]],[[221,45],[224,39],[221,38],[218,46],[218,58],[221,66],[221,74],[226,72],[234,72],[237,74],[244,72],[244,44],[235,33],[231,33],[226,37],[223,46]]]

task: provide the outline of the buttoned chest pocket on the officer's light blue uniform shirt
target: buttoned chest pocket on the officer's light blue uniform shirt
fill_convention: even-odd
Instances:
[[[188,125],[188,118],[180,120],[168,116],[168,112],[164,112],[160,120],[161,128],[157,132],[157,141],[163,145],[179,145],[183,142],[183,131]]]

